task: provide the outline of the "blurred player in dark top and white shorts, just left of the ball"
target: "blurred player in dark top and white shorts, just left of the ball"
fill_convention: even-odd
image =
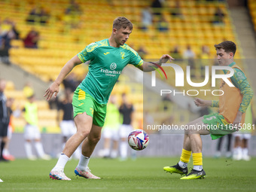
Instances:
[[[123,115],[123,123],[120,126],[120,160],[127,158],[127,137],[133,131],[133,104],[127,101],[126,93],[122,94],[122,104],[120,105],[119,112]]]

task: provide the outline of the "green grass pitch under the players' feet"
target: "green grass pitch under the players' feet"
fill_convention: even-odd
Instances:
[[[163,171],[174,165],[178,157],[140,157],[137,160],[92,158],[90,169],[99,180],[77,178],[78,160],[70,160],[65,168],[72,181],[49,178],[55,160],[15,160],[0,163],[0,191],[256,191],[256,159],[233,161],[225,158],[203,159],[205,179],[180,180],[179,175]],[[189,163],[189,167],[192,163]]]

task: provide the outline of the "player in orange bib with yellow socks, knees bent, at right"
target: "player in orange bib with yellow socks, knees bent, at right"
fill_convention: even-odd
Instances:
[[[192,127],[196,128],[184,131],[180,161],[175,166],[163,167],[166,172],[184,175],[181,179],[203,178],[206,175],[206,172],[203,170],[203,143],[200,135],[211,134],[212,139],[218,139],[221,136],[236,132],[238,130],[236,128],[239,128],[239,123],[245,122],[245,111],[253,96],[253,91],[244,72],[233,61],[233,56],[236,53],[236,44],[232,41],[223,41],[221,44],[215,44],[215,49],[219,65],[230,66],[234,70],[234,75],[228,79],[235,87],[229,87],[223,81],[220,89],[224,91],[224,94],[219,97],[219,101],[195,99],[194,102],[197,106],[219,107],[219,113],[205,115],[188,123],[188,126],[193,125]],[[224,71],[225,74],[227,72],[226,70]],[[203,125],[205,127],[209,126],[205,129],[198,128],[203,127]],[[214,126],[217,126],[218,129],[215,129]],[[187,174],[187,163],[191,153],[194,168]]]

